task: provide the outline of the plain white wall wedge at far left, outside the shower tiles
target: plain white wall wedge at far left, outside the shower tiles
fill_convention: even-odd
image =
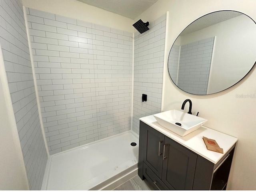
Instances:
[[[0,51],[0,109],[0,190],[29,190],[2,51]]]

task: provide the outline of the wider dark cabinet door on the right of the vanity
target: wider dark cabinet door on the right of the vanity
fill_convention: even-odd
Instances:
[[[165,137],[162,181],[170,189],[192,190],[197,155]]]

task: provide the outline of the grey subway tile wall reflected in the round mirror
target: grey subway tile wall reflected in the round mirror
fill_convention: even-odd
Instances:
[[[182,45],[178,71],[178,87],[196,94],[207,91],[214,37]]]

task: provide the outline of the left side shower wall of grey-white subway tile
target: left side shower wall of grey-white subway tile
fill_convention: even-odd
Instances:
[[[40,190],[48,155],[20,0],[0,0],[0,44],[30,190]]]

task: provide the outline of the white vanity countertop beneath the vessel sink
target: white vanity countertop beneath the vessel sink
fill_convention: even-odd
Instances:
[[[177,135],[176,133],[169,131],[168,129],[165,129],[162,127],[154,118],[153,115],[142,117],[140,118],[140,121],[146,123],[150,127],[156,129],[160,133],[166,135],[170,139],[176,141],[177,143],[180,143],[181,145],[185,146],[186,148],[189,148],[193,152],[199,154],[200,156],[208,159],[209,161],[216,164],[223,156],[224,154],[238,141],[237,138],[232,137],[230,135],[226,135],[224,133],[221,133],[219,131],[215,131],[213,129],[207,128],[207,127],[200,127],[196,131],[189,133],[188,135],[181,137]],[[214,152],[211,150],[208,150],[206,148],[206,145],[204,144],[204,141],[202,137],[207,137],[209,139],[214,139],[220,146],[220,148],[223,148],[223,154]]]

